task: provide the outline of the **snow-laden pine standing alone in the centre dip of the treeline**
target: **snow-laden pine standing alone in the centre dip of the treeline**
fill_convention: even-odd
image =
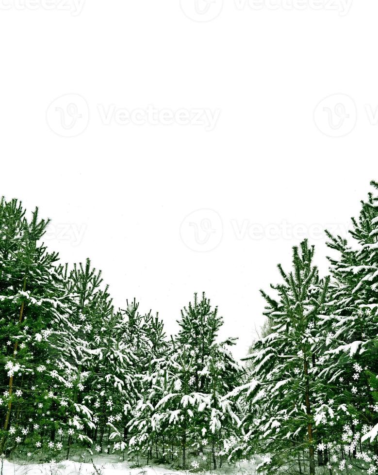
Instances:
[[[181,311],[178,323],[180,331],[172,340],[167,364],[167,386],[156,405],[154,424],[172,440],[181,441],[182,467],[191,446],[201,463],[209,467],[211,460],[216,468],[217,457],[221,461],[235,444],[239,423],[235,406],[227,397],[239,384],[241,373],[226,348],[234,340],[217,342],[223,318],[204,293],[201,300],[195,294],[194,302]],[[192,463],[199,466],[197,460]]]

